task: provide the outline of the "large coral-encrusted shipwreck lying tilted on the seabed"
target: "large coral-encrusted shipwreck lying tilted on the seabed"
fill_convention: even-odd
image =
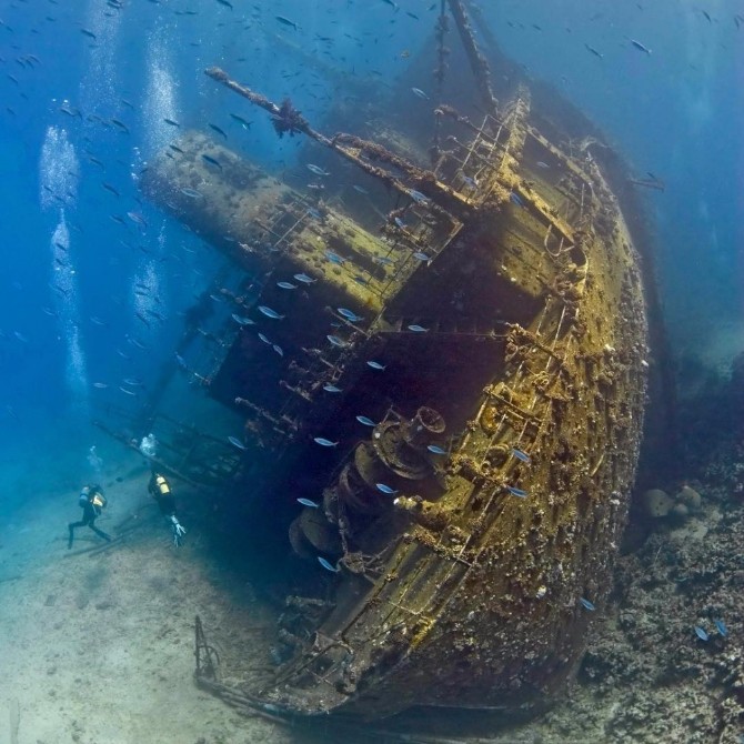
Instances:
[[[429,140],[412,135],[415,111],[379,139],[324,134],[211,68],[278,135],[308,140],[308,184],[198,131],[143,175],[232,267],[221,330],[197,308],[168,374],[244,428],[239,443],[184,443],[159,414],[164,374],[138,436],[154,431],[182,477],[283,500],[285,550],[318,577],[286,597],[260,687],[220,682],[198,623],[198,681],[235,705],[542,706],[606,599],[646,398],[640,257],[594,140],[534,111],[515,76],[496,98],[472,22],[442,1],[430,100],[416,99]],[[464,61],[467,86],[452,72]],[[341,167],[356,177],[328,197]]]

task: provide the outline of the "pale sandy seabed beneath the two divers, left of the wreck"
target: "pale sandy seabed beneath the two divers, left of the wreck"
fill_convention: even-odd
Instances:
[[[147,494],[142,458],[117,460],[99,479],[109,506],[97,526],[119,536],[107,550],[86,550],[105,544],[88,527],[67,547],[86,482],[74,473],[37,483],[28,507],[0,523],[0,742],[289,742],[285,730],[240,716],[194,684],[194,616],[205,627],[250,621],[250,587],[229,585],[237,580],[200,547],[185,500],[189,534],[175,549]]]

